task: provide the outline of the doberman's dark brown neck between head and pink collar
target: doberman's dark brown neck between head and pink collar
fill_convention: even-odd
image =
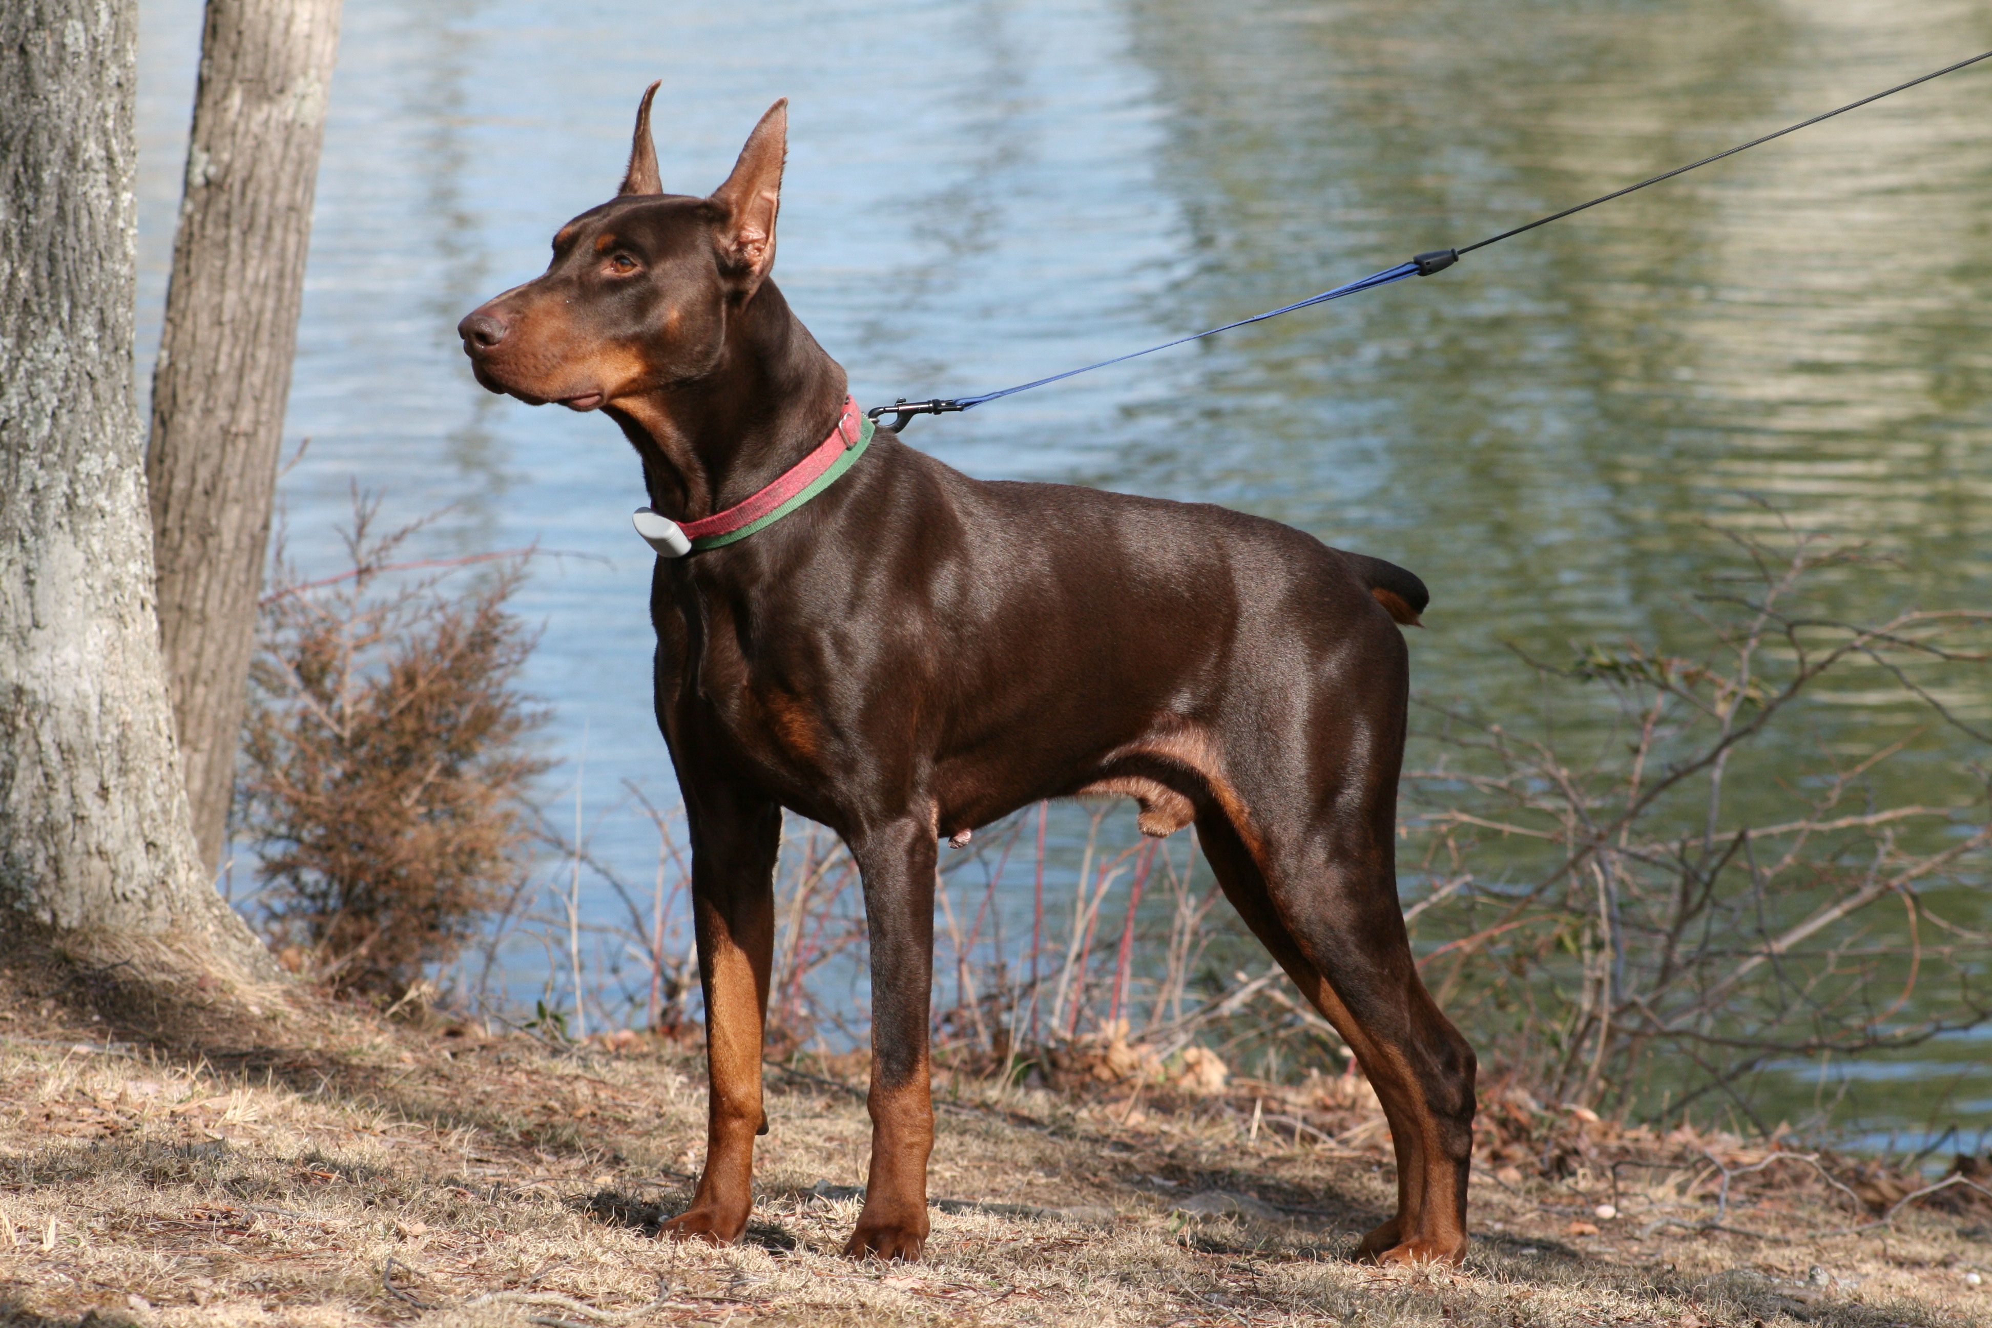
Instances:
[[[847,378],[775,289],[727,313],[711,372],[606,408],[657,512],[695,522],[773,484],[837,424]]]

